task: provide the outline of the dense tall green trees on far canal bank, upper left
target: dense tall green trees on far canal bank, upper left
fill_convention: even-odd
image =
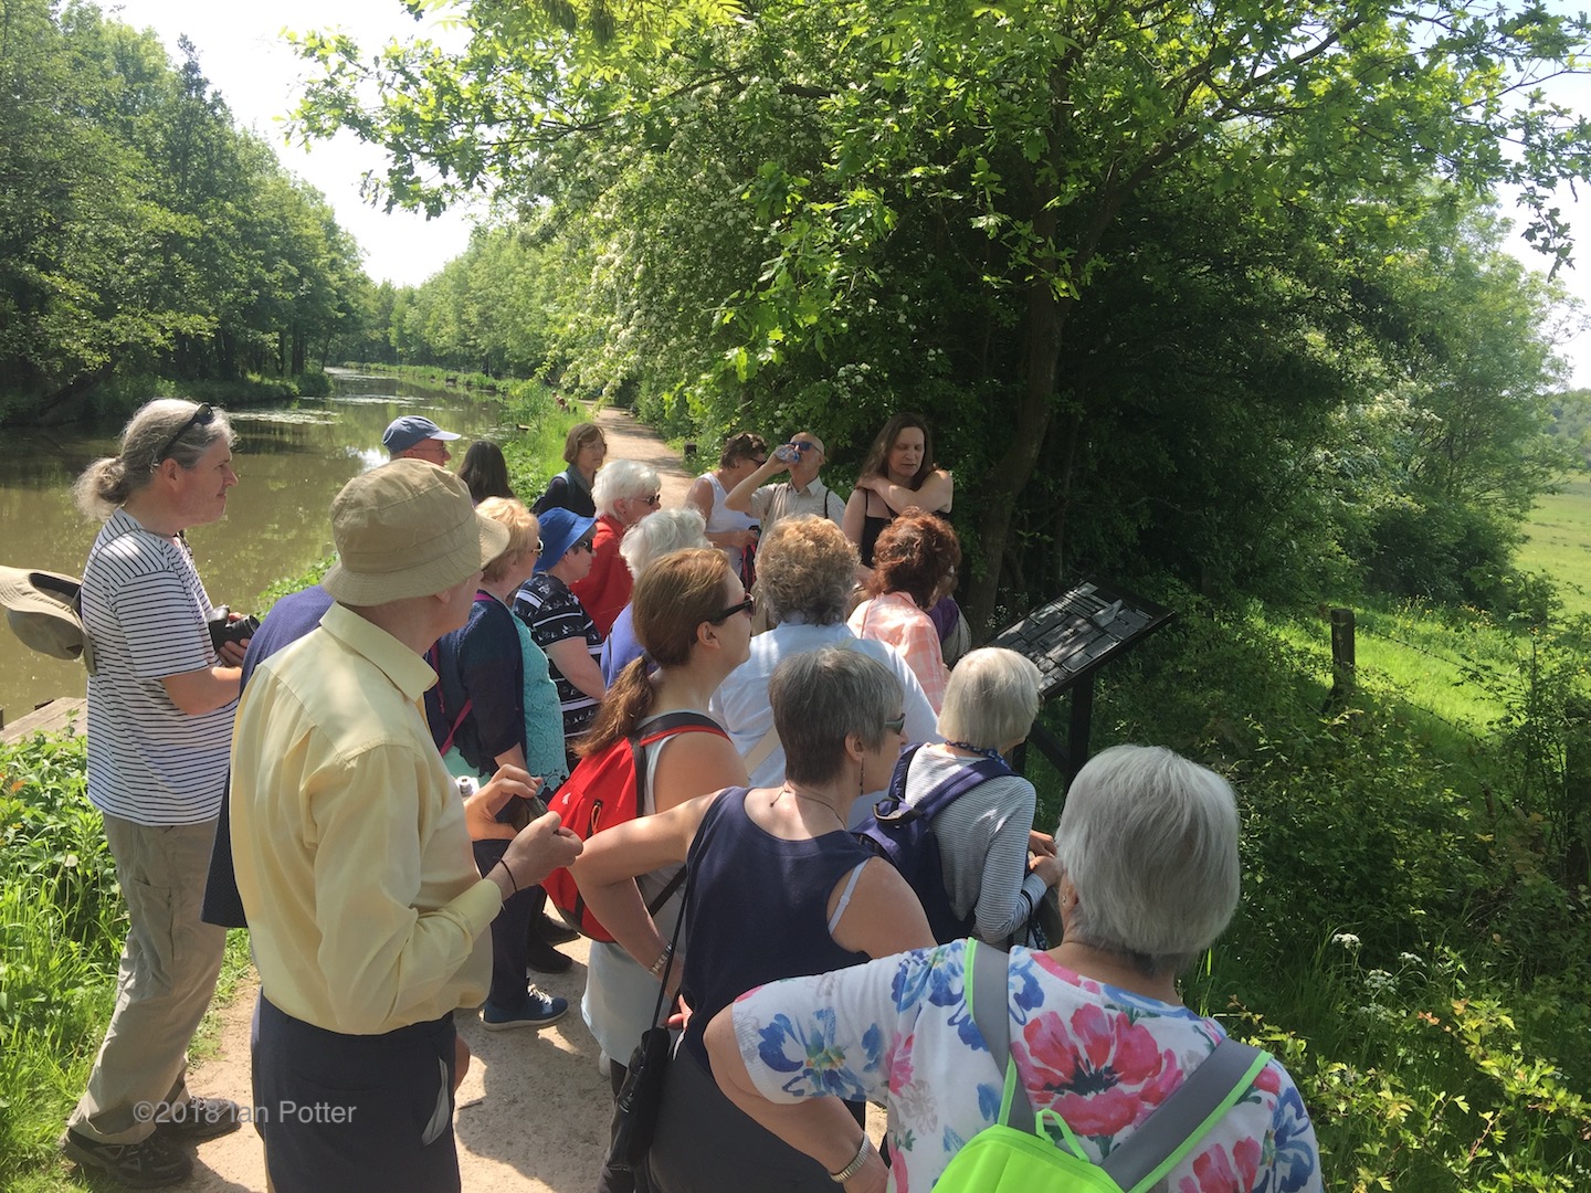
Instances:
[[[0,0],[0,417],[118,372],[302,372],[347,317],[358,247],[181,56]]]

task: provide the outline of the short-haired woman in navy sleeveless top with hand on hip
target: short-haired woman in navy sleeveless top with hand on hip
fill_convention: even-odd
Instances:
[[[644,1182],[654,1193],[832,1190],[818,1164],[724,1099],[702,1028],[760,981],[932,942],[912,888],[845,832],[851,805],[888,779],[901,752],[894,678],[856,651],[811,651],[780,665],[768,698],[791,743],[783,784],[725,787],[605,829],[570,867],[592,913],[652,973],[663,972],[671,946],[635,875],[679,862],[690,873],[684,973],[675,966],[670,989],[683,985],[695,1028],[668,1066]],[[853,1110],[858,1121],[862,1109]]]

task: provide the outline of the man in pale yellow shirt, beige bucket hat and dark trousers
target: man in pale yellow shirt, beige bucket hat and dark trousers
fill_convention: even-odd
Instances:
[[[256,1126],[277,1193],[457,1190],[452,1012],[487,927],[579,853],[549,813],[482,878],[420,711],[508,530],[450,472],[398,460],[331,506],[321,624],[261,663],[232,744],[232,849],[261,993]]]

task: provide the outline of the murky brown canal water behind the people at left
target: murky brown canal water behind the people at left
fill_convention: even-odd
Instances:
[[[468,441],[498,437],[501,407],[465,391],[328,369],[329,398],[228,410],[237,431],[239,485],[226,517],[188,531],[216,604],[247,611],[263,589],[331,554],[331,498],[352,477],[387,460],[382,431],[401,414],[423,414]],[[72,482],[116,450],[121,425],[13,428],[0,441],[0,563],[78,576],[99,530],[72,504]],[[78,663],[29,651],[0,627],[0,708],[6,722],[54,697],[84,695]]]

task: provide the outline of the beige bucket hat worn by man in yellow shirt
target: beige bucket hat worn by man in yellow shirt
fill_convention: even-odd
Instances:
[[[320,582],[344,604],[431,596],[508,550],[508,527],[476,514],[469,487],[425,460],[353,477],[331,503],[337,563]]]

